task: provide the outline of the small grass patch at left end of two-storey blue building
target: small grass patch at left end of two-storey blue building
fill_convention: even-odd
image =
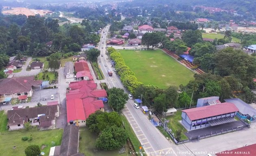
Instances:
[[[188,139],[184,134],[187,132],[187,130],[179,122],[181,120],[181,111],[177,111],[174,115],[165,118],[169,120],[168,127],[172,130],[172,132],[174,132],[174,134],[176,134],[176,130],[182,130],[181,140]]]

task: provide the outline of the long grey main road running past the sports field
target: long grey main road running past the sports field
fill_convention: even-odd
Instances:
[[[108,28],[108,26],[107,26]],[[105,34],[108,32],[108,29],[104,28]],[[102,35],[104,35],[102,33]],[[107,74],[107,70],[111,69],[111,63],[106,58],[105,47],[106,42],[104,40],[106,37],[101,38],[99,43],[99,50],[101,50],[101,54],[103,57],[98,57],[98,62],[100,62],[100,66],[102,68],[102,72],[110,85],[110,87],[118,87],[122,88],[126,91],[124,86],[122,85],[119,77],[113,72],[113,76],[109,77]],[[103,42],[103,43],[102,43]],[[101,47],[104,47],[103,49]],[[106,67],[104,64],[106,63]],[[128,93],[128,91],[126,91]],[[155,128],[151,122],[148,120],[147,116],[140,111],[140,109],[135,109],[133,107],[133,100],[128,100],[125,108],[123,109],[123,113],[130,122],[132,129],[135,131],[139,141],[143,145],[144,150],[150,156],[190,156],[191,154],[182,154],[180,151],[186,152],[187,150],[182,145],[174,145],[173,143],[167,141],[167,139],[159,132],[157,128]]]

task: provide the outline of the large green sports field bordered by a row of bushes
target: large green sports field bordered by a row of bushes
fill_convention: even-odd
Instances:
[[[187,85],[194,73],[161,50],[117,50],[139,82],[160,88]]]

